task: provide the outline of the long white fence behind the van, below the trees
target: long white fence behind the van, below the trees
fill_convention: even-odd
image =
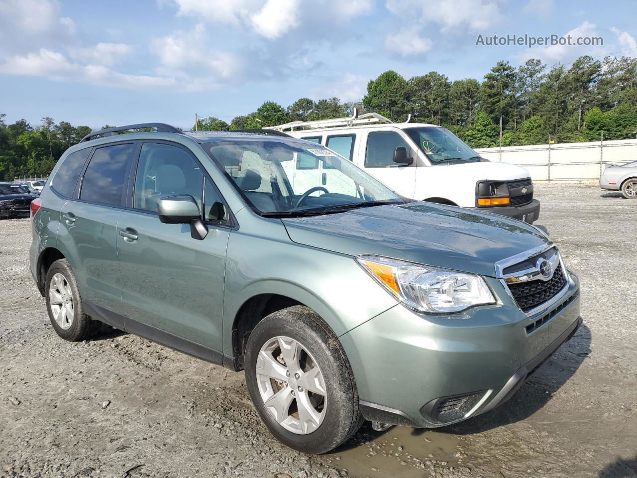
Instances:
[[[637,160],[637,140],[477,148],[489,161],[526,168],[536,181],[596,181],[605,164]]]

